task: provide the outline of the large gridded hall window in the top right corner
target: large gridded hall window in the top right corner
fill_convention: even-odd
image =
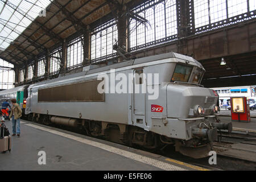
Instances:
[[[194,0],[195,33],[255,18],[255,0]]]

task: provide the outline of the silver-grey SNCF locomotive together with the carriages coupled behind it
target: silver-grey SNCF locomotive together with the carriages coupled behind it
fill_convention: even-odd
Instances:
[[[131,75],[133,88],[157,86],[159,97],[148,100],[148,92],[99,93],[100,82],[109,85],[110,79],[98,80],[98,75],[111,78],[113,70]],[[217,92],[200,85],[204,72],[192,57],[170,52],[100,68],[88,65],[80,73],[4,90],[0,96],[18,97],[23,92],[19,104],[31,121],[81,129],[128,146],[153,149],[173,144],[183,155],[204,158],[217,139],[217,129],[232,131],[232,123],[221,123],[216,115]],[[158,74],[159,82],[147,82],[143,74],[148,73]]]

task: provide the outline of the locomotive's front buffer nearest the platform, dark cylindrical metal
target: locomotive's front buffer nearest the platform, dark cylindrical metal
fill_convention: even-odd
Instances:
[[[206,137],[210,142],[212,142],[217,139],[217,127],[214,127],[213,129],[200,129],[195,127],[192,129],[192,135],[197,137]]]

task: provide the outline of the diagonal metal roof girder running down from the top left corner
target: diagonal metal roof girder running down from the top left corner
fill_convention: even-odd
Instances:
[[[24,11],[20,10],[18,8],[18,6],[15,6],[13,3],[11,3],[10,1],[3,1],[1,0],[3,3],[7,4],[8,6],[10,6],[12,9],[14,9],[15,11],[17,11],[18,13],[20,13],[21,15],[23,15],[24,17],[26,17],[27,19],[31,20],[31,22],[34,22],[35,24],[37,24],[40,28],[42,28],[42,30],[46,33],[46,35],[48,35],[50,38],[52,39],[57,39],[60,42],[63,42],[63,39],[55,34],[55,32],[49,30],[49,28],[47,28],[46,26],[44,26],[42,23],[38,22],[38,20],[32,18],[30,15],[28,15],[27,13],[25,13]]]

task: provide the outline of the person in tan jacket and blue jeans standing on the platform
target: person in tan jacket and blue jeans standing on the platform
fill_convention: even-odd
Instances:
[[[20,109],[19,105],[16,103],[16,99],[13,98],[11,100],[11,104],[13,104],[13,107],[11,107],[11,113],[10,113],[10,118],[13,123],[13,136],[16,135],[17,131],[17,136],[20,136],[20,117],[22,117],[22,110]],[[17,126],[17,130],[16,130]]]

